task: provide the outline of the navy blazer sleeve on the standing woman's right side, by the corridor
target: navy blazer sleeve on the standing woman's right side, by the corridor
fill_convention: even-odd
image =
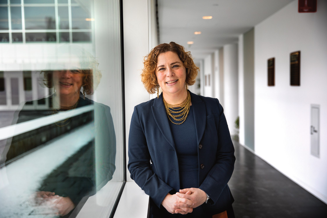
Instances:
[[[230,180],[235,163],[234,146],[228,129],[224,110],[216,99],[219,117],[215,118],[218,144],[215,155],[215,164],[201,183],[199,188],[210,197],[208,204],[215,204]]]

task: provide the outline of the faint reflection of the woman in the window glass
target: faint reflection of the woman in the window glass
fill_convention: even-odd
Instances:
[[[116,153],[115,132],[110,108],[85,97],[85,93],[93,94],[94,87],[101,77],[101,73],[97,69],[98,63],[84,49],[78,46],[69,46],[68,48],[69,54],[63,53],[60,57],[67,61],[57,65],[57,70],[43,71],[44,84],[48,88],[54,87],[55,89],[55,94],[49,96],[48,101],[45,101],[49,102],[48,109],[30,110],[25,106],[37,104],[27,102],[19,112],[17,121],[20,123],[36,117],[64,112],[62,114],[66,115],[51,125],[51,134],[65,133],[70,128],[78,127],[85,122],[94,122],[95,140],[86,141],[85,145],[75,154],[49,173],[30,201],[35,206],[40,206],[36,207],[36,210],[41,207],[42,210],[47,208],[49,214],[66,215],[67,217],[72,214],[73,209],[84,196],[94,194],[96,190],[112,179]],[[35,101],[42,102],[44,99]],[[94,109],[74,116],[74,111],[84,106],[94,106]],[[42,138],[42,134],[41,132],[38,137]],[[71,145],[67,144],[67,146]],[[26,150],[26,148],[11,143],[7,160],[26,152],[24,149]],[[58,152],[60,153],[60,151]],[[82,202],[85,202],[86,199],[84,198]]]

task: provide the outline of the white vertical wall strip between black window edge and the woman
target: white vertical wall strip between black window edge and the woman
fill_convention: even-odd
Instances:
[[[143,57],[149,53],[148,0],[124,0],[123,16],[126,154],[128,154],[129,125],[134,106],[150,99],[140,76]],[[128,162],[128,156],[126,159]],[[127,181],[132,181],[128,170]]]

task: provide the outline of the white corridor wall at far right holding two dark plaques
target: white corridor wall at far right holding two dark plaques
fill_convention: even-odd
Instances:
[[[255,153],[327,203],[327,1],[298,13],[293,1],[255,26]],[[301,51],[301,86],[289,54]],[[275,57],[275,86],[267,59]],[[310,104],[320,105],[320,158],[310,154]]]

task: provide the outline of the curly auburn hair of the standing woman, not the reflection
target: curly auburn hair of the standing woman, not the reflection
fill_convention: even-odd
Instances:
[[[175,42],[169,42],[169,44],[163,43],[154,47],[150,53],[144,57],[144,68],[141,77],[146,91],[150,94],[155,93],[159,88],[156,76],[158,56],[167,51],[176,53],[183,62],[186,69],[185,83],[187,85],[193,85],[195,83],[195,78],[198,75],[199,68],[194,64],[191,52],[186,52],[182,45]]]

